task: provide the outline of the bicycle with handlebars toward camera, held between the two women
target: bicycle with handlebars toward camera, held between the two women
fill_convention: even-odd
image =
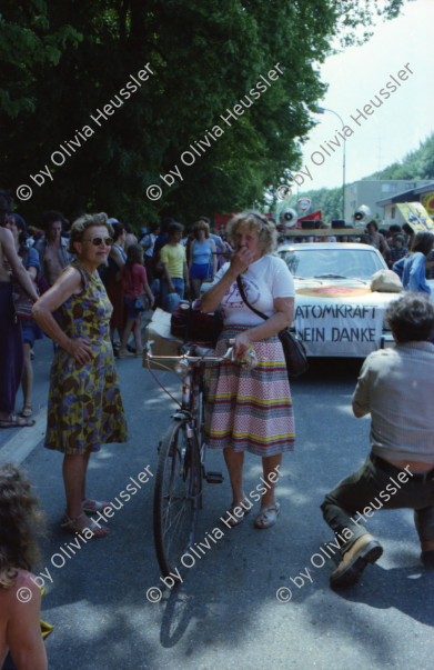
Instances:
[[[174,400],[179,409],[159,444],[153,498],[153,533],[157,559],[164,577],[182,572],[181,557],[193,546],[199,511],[202,508],[202,483],[221,483],[223,474],[205,469],[204,403],[206,364],[221,363],[223,357],[201,356],[198,344],[188,344],[175,356],[153,356],[152,342],[144,347],[148,369],[151,361],[175,361],[174,370],[183,377],[179,402],[153,374],[157,382]],[[174,578],[174,577],[173,577]]]

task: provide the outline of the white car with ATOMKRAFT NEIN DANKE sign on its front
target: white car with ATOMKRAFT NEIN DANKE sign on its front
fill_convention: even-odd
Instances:
[[[365,358],[392,341],[383,314],[400,292],[371,290],[372,276],[387,269],[374,247],[285,242],[277,254],[294,277],[294,327],[307,356]]]

